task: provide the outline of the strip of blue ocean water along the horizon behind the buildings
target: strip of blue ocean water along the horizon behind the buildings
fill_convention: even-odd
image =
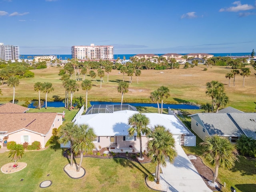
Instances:
[[[163,54],[156,54],[156,55],[160,56]],[[224,56],[250,56],[251,55],[251,53],[210,53],[210,54],[213,54],[215,57],[218,57],[218,56],[221,56],[221,57],[224,57]],[[40,54],[38,54],[38,55],[40,55]],[[32,56],[32,58],[33,58],[34,56],[38,56],[38,55],[23,55],[23,54],[21,54],[20,58],[21,59],[24,58],[26,60],[26,59],[28,59],[28,56]],[[56,55],[56,54],[52,54],[52,55]],[[132,57],[134,55],[136,55],[136,54],[114,54],[114,59],[117,59],[118,57],[120,59],[123,59],[124,56],[126,59],[129,59],[130,57]],[[181,54],[181,55],[186,55],[186,54]],[[57,54],[56,56],[57,56],[57,58],[62,59],[62,60],[72,58],[71,55],[65,55],[65,54]]]

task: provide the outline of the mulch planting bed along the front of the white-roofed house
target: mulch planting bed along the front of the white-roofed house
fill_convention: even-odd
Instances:
[[[151,162],[150,158],[148,158],[148,156],[146,156],[145,154],[143,154],[143,160],[139,160],[139,154],[140,153],[128,153],[128,155],[126,153],[111,153],[109,152],[109,154],[106,154],[106,156],[103,156],[103,152],[104,151],[108,151],[108,148],[102,148],[101,150],[94,150],[92,151],[92,154],[84,154],[83,157],[93,157],[93,158],[101,158],[101,159],[108,159],[108,158],[126,158],[128,160],[137,162],[137,163],[149,163]],[[100,155],[97,155],[97,153],[100,152]],[[66,158],[70,158],[70,149],[67,149],[63,156]],[[74,156],[74,158],[80,158],[80,155]]]

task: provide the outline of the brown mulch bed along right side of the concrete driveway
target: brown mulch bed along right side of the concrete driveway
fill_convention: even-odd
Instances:
[[[203,180],[206,183],[206,185],[208,186],[208,188],[210,188],[213,191],[220,191],[221,184],[217,180],[216,180],[216,182],[218,183],[219,187],[211,187],[208,185],[208,181],[212,180],[212,178],[214,176],[213,171],[202,162],[202,159],[199,156],[196,156],[194,154],[187,154],[187,156],[190,156],[190,155],[196,157],[196,159],[191,159],[190,161],[192,162],[192,164],[194,165],[194,167],[196,168],[196,170],[198,171],[200,176],[203,178]]]

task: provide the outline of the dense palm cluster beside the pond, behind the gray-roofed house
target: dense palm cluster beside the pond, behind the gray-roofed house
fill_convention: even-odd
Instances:
[[[212,80],[206,83],[206,89],[206,95],[212,98],[211,112],[218,113],[220,106],[226,106],[229,103],[228,96],[224,92],[224,84]]]

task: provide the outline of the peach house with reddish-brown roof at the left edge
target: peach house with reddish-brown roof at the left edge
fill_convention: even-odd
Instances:
[[[17,104],[0,105],[0,145],[39,141],[44,148],[52,129],[62,125],[62,113],[25,113],[29,108]],[[6,141],[6,142],[4,142]]]

